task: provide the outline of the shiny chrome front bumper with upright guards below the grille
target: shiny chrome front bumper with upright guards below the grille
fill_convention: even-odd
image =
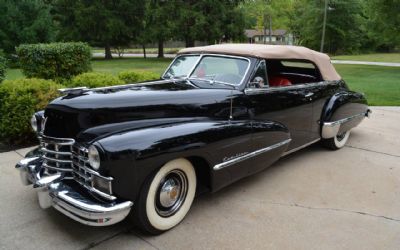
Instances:
[[[61,174],[41,176],[39,157],[28,157],[15,167],[20,171],[24,185],[33,184],[38,190],[42,208],[54,207],[61,213],[82,224],[108,226],[122,221],[130,212],[131,201],[102,203],[86,197],[64,183]]]

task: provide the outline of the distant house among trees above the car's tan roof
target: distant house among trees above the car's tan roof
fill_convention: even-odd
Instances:
[[[249,43],[267,43],[269,44],[269,30],[245,30],[245,35]],[[286,30],[277,29],[272,31],[271,44],[293,45],[294,36]]]

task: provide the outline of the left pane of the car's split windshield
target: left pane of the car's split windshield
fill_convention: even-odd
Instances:
[[[171,64],[167,72],[165,72],[163,78],[179,78],[187,77],[190,71],[193,69],[199,55],[188,55],[177,57]]]

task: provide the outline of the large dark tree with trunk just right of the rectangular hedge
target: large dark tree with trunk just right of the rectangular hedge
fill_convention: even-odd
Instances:
[[[52,11],[59,23],[61,40],[81,40],[105,49],[128,46],[142,27],[144,4],[140,0],[53,0]]]

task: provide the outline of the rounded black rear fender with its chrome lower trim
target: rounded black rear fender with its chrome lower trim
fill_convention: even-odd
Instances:
[[[322,111],[321,137],[333,138],[356,127],[370,112],[363,94],[353,91],[336,93]]]

